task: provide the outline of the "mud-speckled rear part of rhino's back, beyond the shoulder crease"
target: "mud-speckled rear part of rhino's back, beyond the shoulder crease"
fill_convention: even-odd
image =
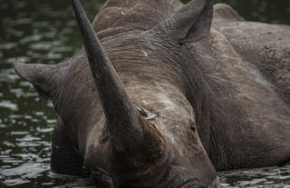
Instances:
[[[257,82],[265,80],[290,105],[290,26],[236,22],[217,25]]]

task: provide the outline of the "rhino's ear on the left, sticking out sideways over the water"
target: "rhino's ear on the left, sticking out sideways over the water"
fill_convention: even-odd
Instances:
[[[14,62],[14,70],[22,79],[34,85],[41,101],[46,101],[51,97],[56,86],[55,65]]]

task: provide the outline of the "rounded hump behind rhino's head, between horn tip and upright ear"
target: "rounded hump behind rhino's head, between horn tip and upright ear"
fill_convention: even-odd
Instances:
[[[92,25],[96,32],[117,27],[149,30],[181,5],[179,0],[109,0]]]

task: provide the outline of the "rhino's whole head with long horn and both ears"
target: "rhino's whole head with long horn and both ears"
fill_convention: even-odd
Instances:
[[[208,36],[213,3],[110,0],[105,6],[118,11],[120,4],[133,4],[131,22],[120,19],[110,27],[114,16],[106,20],[101,11],[100,25],[91,25],[73,0],[81,51],[62,64],[14,64],[59,114],[52,171],[86,169],[97,187],[206,187],[216,172],[198,136],[198,112],[189,102],[198,92],[189,88],[185,46]],[[164,5],[163,12],[154,13],[151,4]],[[142,10],[155,14],[151,21],[158,24],[146,24],[150,15]],[[137,15],[144,25],[128,26]]]

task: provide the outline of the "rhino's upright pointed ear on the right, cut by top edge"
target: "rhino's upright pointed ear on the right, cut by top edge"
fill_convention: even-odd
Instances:
[[[213,0],[191,0],[150,30],[178,43],[196,42],[210,33]]]

